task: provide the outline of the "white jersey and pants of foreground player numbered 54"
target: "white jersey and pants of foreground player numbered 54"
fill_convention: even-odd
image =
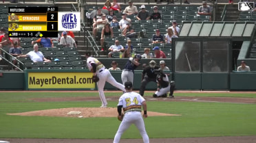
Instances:
[[[127,112],[125,112],[125,116],[122,119],[118,131],[116,132],[114,143],[118,143],[120,141],[122,133],[124,133],[131,126],[131,124],[136,125],[136,127],[140,131],[143,142],[149,143],[149,136],[147,135],[145,123],[140,112],[143,101],[145,101],[145,99],[136,92],[127,92],[120,96],[118,105],[122,105],[124,111],[125,109],[127,109]],[[140,107],[140,109],[132,108],[134,106]]]

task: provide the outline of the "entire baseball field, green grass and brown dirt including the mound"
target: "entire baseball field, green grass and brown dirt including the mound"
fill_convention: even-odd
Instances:
[[[0,140],[10,143],[113,142],[120,125],[120,91],[0,92]],[[175,98],[145,93],[151,142],[256,142],[256,92],[175,91]],[[73,114],[69,114],[74,112]],[[121,142],[142,142],[133,125]]]

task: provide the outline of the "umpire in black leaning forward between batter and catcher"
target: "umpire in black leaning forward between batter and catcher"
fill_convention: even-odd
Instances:
[[[149,62],[149,66],[145,66],[142,71],[142,81],[140,83],[140,95],[144,95],[145,88],[147,83],[150,81],[156,82],[156,73],[154,72],[155,69],[159,69],[159,66],[156,66],[156,62],[151,60]]]

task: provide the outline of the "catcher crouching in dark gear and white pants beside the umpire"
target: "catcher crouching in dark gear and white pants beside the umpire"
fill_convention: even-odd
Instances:
[[[169,96],[173,98],[173,90],[175,88],[174,81],[169,82],[168,76],[163,73],[162,69],[154,70],[156,73],[156,82],[158,83],[158,89],[156,90],[153,97],[167,97],[167,92],[170,92]]]

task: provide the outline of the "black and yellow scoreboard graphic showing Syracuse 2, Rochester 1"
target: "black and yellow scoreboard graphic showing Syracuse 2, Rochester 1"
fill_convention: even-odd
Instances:
[[[57,7],[9,7],[9,37],[58,37]]]

